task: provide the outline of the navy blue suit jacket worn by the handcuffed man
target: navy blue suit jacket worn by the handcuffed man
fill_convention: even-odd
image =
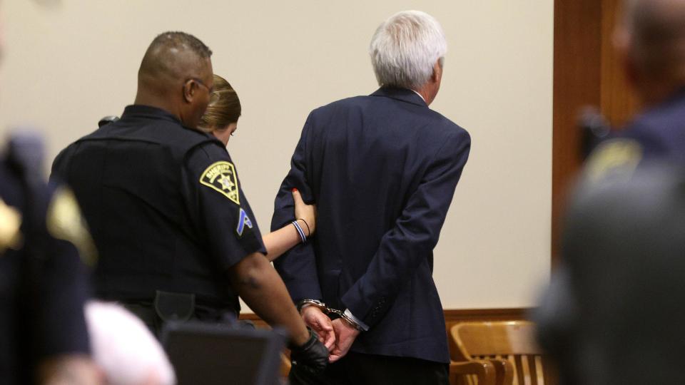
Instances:
[[[432,250],[470,144],[466,130],[406,89],[310,113],[272,228],[293,220],[298,188],[318,205],[317,231],[275,266],[293,301],[322,299],[370,327],[352,351],[449,362]]]

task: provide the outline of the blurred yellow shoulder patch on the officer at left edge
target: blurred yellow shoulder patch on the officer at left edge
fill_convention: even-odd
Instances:
[[[96,264],[98,252],[95,242],[70,189],[61,187],[55,191],[48,207],[46,225],[50,235],[76,246],[83,263],[91,267]]]

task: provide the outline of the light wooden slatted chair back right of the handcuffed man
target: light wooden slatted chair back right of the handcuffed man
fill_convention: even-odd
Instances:
[[[514,322],[463,322],[450,329],[455,343],[450,375],[457,384],[467,385],[544,385],[542,351],[534,339],[534,324]],[[476,363],[487,371],[492,364],[494,375],[468,371],[466,364]],[[471,364],[474,366],[474,364]]]

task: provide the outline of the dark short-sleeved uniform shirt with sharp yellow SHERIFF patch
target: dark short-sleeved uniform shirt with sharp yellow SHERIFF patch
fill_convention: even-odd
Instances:
[[[128,106],[63,150],[53,175],[73,188],[98,246],[98,297],[149,301],[159,290],[239,311],[227,270],[265,249],[219,140],[161,109]]]

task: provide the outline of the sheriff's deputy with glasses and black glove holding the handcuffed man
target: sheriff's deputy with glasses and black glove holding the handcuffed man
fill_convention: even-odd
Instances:
[[[210,56],[189,34],[157,36],[135,104],[54,161],[53,177],[73,188],[98,246],[96,297],[121,302],[160,332],[169,321],[230,322],[239,294],[288,329],[295,356],[323,369],[328,350],[265,258],[233,161],[196,129],[213,93]]]

